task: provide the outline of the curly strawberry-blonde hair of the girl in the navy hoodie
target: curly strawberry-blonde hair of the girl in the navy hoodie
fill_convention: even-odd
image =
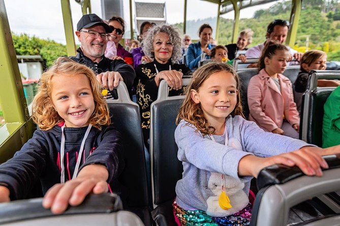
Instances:
[[[59,57],[55,64],[41,75],[38,93],[32,103],[32,119],[41,130],[49,130],[55,125],[64,122],[64,119],[54,109],[51,101],[52,78],[61,75],[73,76],[75,74],[84,74],[91,86],[95,110],[89,122],[99,130],[101,130],[102,126],[110,125],[109,108],[104,97],[101,95],[101,88],[96,79],[96,74],[83,64],[79,64],[66,57]]]

